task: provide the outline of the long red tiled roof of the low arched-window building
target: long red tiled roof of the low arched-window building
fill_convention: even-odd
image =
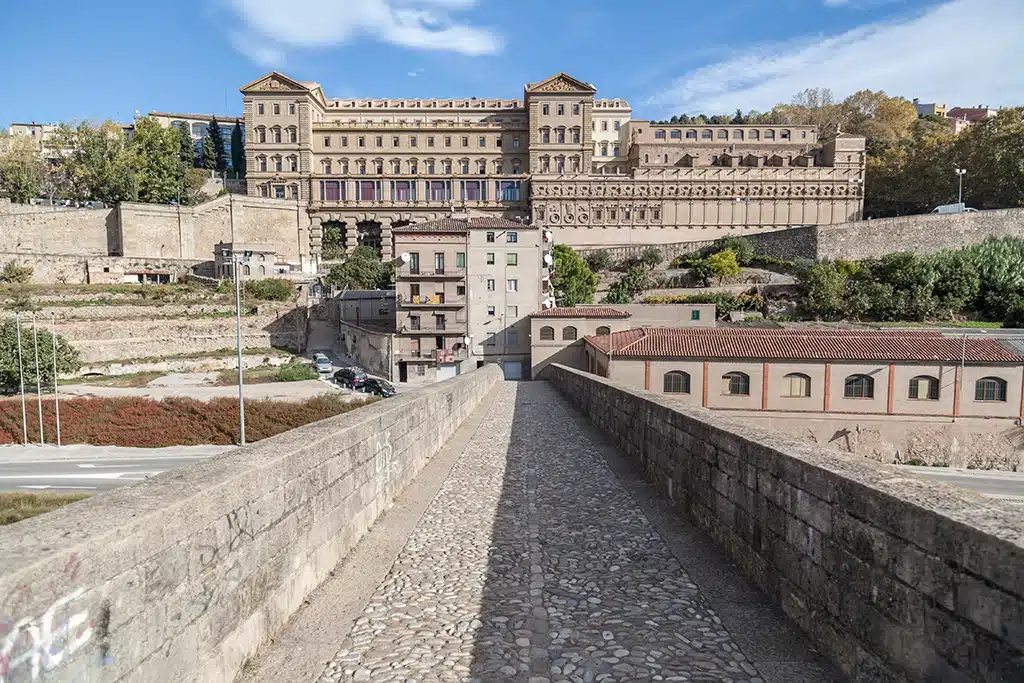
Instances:
[[[613,356],[800,360],[959,361],[964,341],[931,331],[643,328],[587,337]],[[1024,364],[992,339],[968,338],[966,359]]]

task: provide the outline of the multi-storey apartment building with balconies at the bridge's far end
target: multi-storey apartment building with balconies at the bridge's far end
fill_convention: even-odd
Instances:
[[[529,371],[528,316],[550,296],[550,233],[486,215],[394,228],[398,381],[446,379],[485,362]]]

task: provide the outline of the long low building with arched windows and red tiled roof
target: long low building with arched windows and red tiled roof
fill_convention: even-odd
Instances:
[[[1024,356],[929,331],[641,328],[586,338],[588,370],[757,413],[1024,417]]]

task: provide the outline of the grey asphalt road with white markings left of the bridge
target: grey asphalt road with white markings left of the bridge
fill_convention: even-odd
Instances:
[[[0,490],[97,493],[184,467],[234,446],[0,446]]]

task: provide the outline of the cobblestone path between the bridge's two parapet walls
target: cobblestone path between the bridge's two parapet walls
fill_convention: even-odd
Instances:
[[[318,681],[762,683],[555,391],[497,392]]]

